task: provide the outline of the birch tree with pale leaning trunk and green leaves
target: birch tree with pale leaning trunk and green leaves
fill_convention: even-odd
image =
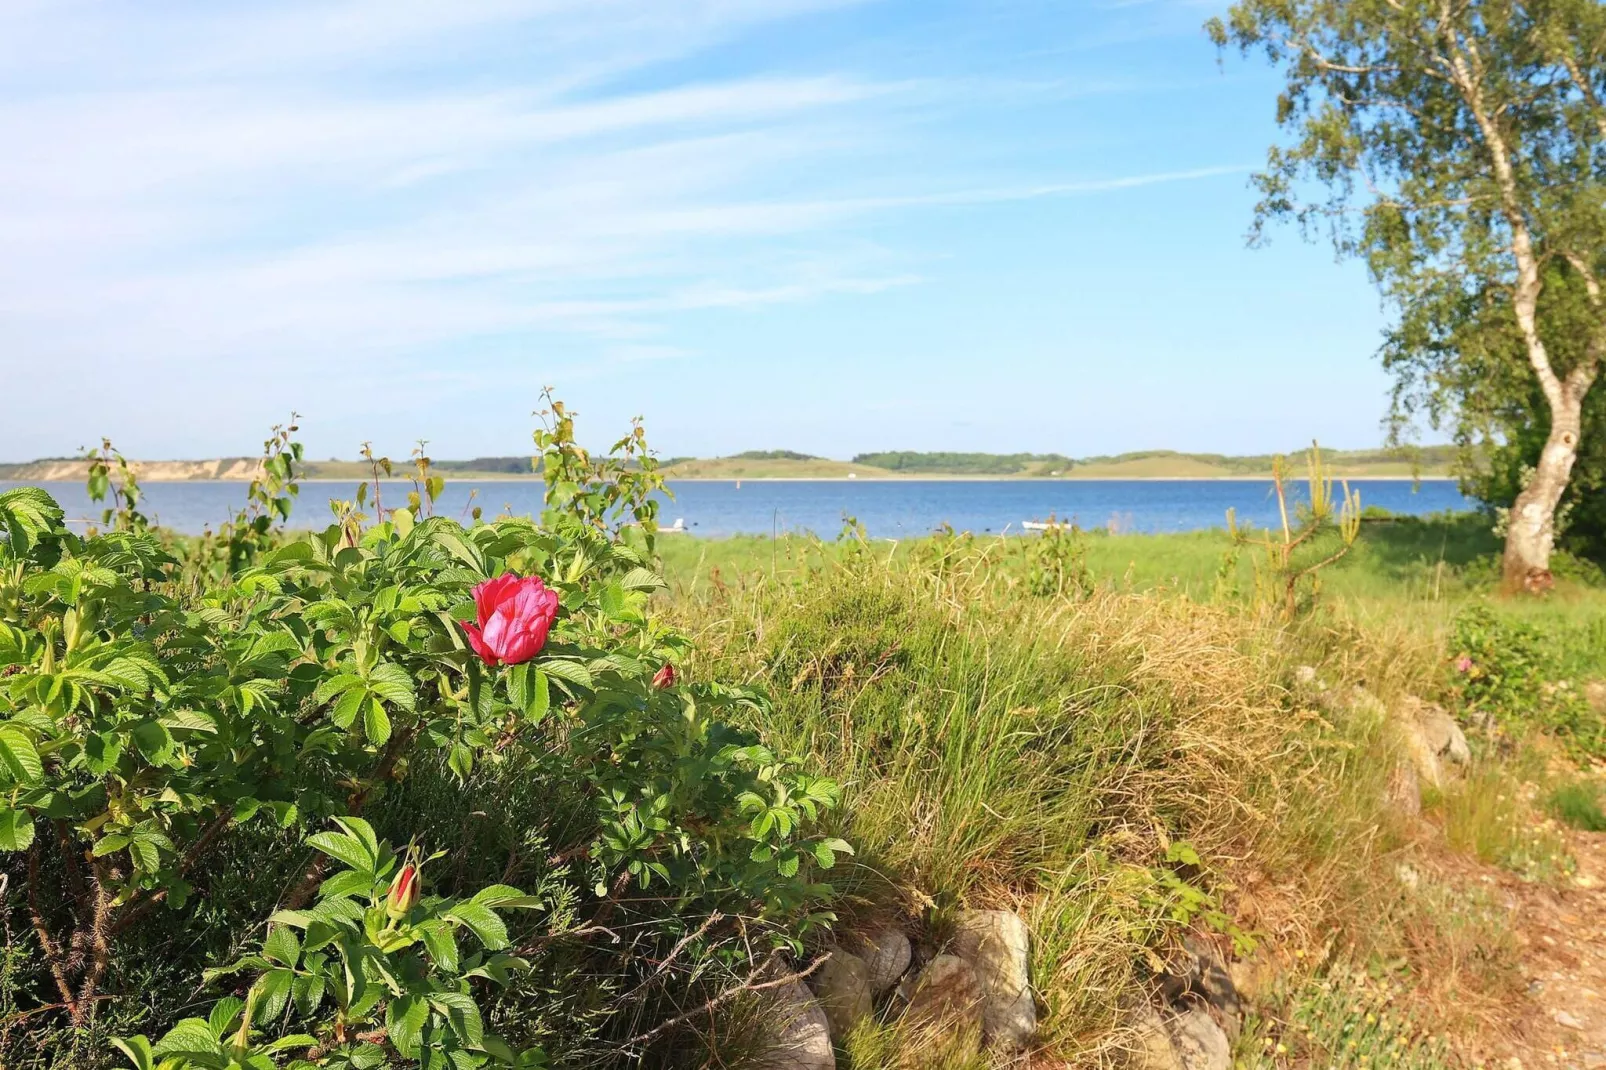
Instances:
[[[1240,0],[1206,29],[1285,77],[1290,138],[1256,175],[1251,236],[1291,218],[1365,260],[1397,313],[1397,405],[1476,423],[1537,398],[1543,447],[1505,517],[1502,572],[1548,586],[1606,357],[1606,8]]]

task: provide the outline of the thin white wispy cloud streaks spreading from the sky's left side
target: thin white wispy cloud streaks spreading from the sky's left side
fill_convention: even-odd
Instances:
[[[866,220],[1243,170],[954,183],[890,146],[973,82],[676,66],[851,3],[0,0],[0,360],[63,394],[509,334],[684,357],[679,313],[917,284]]]

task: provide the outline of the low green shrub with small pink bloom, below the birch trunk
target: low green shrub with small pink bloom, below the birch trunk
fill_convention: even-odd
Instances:
[[[1508,729],[1558,734],[1580,755],[1606,753],[1606,718],[1563,675],[1556,644],[1532,622],[1468,606],[1455,617],[1452,689]]]

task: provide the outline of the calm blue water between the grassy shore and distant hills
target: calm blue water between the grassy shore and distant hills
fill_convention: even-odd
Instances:
[[[0,490],[16,484],[0,482]],[[98,516],[82,484],[43,484],[67,511],[69,519]],[[1302,485],[1298,487],[1302,490]],[[1394,513],[1426,514],[1469,509],[1452,480],[1355,480],[1363,506]],[[1121,532],[1190,532],[1222,527],[1227,508],[1238,519],[1269,525],[1277,521],[1277,500],[1270,482],[1261,480],[909,480],[848,482],[789,480],[755,482],[676,482],[675,500],[663,506],[663,522],[686,519],[694,535],[814,532],[825,538],[842,529],[845,514],[854,516],[874,538],[925,535],[941,524],[956,530],[1018,533],[1021,521],[1074,521],[1082,527],[1113,527]],[[300,501],[291,517],[294,527],[323,527],[329,521],[331,496],[350,498],[355,484],[302,484]],[[146,484],[143,511],[180,532],[196,533],[217,525],[244,501],[246,485],[234,482]],[[471,503],[472,495],[472,503]],[[384,501],[403,504],[406,485],[385,485]],[[437,513],[466,516],[471,504],[485,516],[501,511],[540,511],[540,480],[448,482]]]

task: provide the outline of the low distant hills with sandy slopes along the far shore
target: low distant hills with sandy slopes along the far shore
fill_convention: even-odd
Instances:
[[[1457,459],[1455,447],[1412,450],[1325,450],[1328,472],[1336,477],[1449,476]],[[135,461],[140,477],[149,482],[196,479],[247,480],[259,471],[259,458],[214,461]],[[535,476],[528,456],[479,456],[464,461],[434,461],[450,479],[524,479]],[[1288,471],[1304,472],[1304,450],[1288,455]],[[392,463],[395,479],[410,471],[406,459]],[[1060,453],[920,453],[887,450],[859,453],[851,461],[798,453],[797,450],[747,450],[721,458],[676,456],[663,463],[671,479],[1253,479],[1270,476],[1272,455],[1229,456],[1222,453],[1179,453],[1139,450],[1110,456],[1068,458]],[[80,482],[82,458],[45,458],[22,464],[0,464],[0,480]],[[307,479],[368,479],[366,461],[308,461]]]

